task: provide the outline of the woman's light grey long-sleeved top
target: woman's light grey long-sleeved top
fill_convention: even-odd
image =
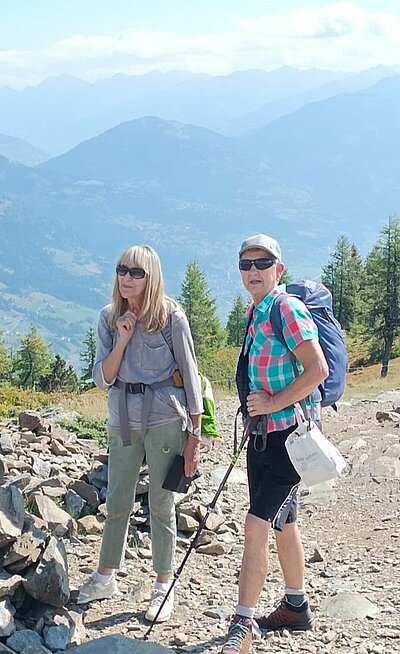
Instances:
[[[119,429],[120,391],[113,387],[115,380],[110,384],[105,382],[102,368],[103,360],[110,354],[118,338],[118,331],[111,329],[108,324],[110,308],[111,305],[107,305],[100,312],[93,379],[99,388],[109,387],[108,424],[111,428]],[[160,332],[149,334],[138,321],[126,346],[117,378],[123,382],[151,384],[167,379],[178,368],[184,388],[168,386],[155,390],[147,426],[154,427],[181,419],[182,429],[185,430],[188,414],[202,413],[203,400],[189,323],[183,311],[175,307],[172,308],[171,331],[175,360],[163,335]],[[140,429],[143,395],[128,394],[127,402],[129,426],[131,429]]]

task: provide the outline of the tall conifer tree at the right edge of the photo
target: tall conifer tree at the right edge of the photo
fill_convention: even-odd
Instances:
[[[381,346],[381,377],[386,377],[394,339],[400,334],[400,220],[391,216],[366,259],[367,333]]]

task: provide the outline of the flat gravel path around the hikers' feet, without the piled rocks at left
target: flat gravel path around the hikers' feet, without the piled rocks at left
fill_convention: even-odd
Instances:
[[[332,485],[302,492],[300,527],[306,551],[306,584],[316,616],[312,632],[271,634],[256,642],[259,652],[353,652],[395,654],[400,651],[399,478],[400,394],[379,402],[342,403],[336,415],[328,410],[326,433],[342,449],[348,462],[345,475]],[[202,465],[203,477],[195,497],[207,502],[218,484],[210,473],[227,465],[232,452],[236,402],[220,403],[221,438]],[[378,414],[379,417],[379,414]],[[243,547],[242,523],[247,507],[244,453],[237,463],[219,507],[239,532],[218,538],[222,555],[193,552],[176,585],[173,620],[156,626],[153,642],[180,651],[218,651],[227,618],[236,603],[237,576]],[[241,474],[242,473],[242,474]],[[218,474],[215,475],[218,477]],[[224,531],[224,530],[223,530]],[[186,540],[183,541],[186,544]],[[99,537],[91,536],[77,548],[68,546],[70,577],[76,585],[95,566]],[[178,561],[184,555],[178,550]],[[93,603],[85,611],[87,635],[96,638],[120,633],[140,638],[153,574],[146,551],[127,559],[118,574],[122,595]],[[259,610],[270,609],[282,594],[282,579],[271,543],[271,570]]]

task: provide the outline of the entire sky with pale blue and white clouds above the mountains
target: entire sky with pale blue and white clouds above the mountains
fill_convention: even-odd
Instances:
[[[0,87],[69,74],[400,69],[399,0],[0,0]]]

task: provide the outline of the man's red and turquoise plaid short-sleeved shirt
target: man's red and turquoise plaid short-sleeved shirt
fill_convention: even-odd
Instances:
[[[252,312],[253,320],[249,326],[246,339],[246,350],[250,340],[253,343],[249,353],[249,379],[251,390],[263,390],[274,395],[295,380],[293,371],[293,351],[304,341],[318,340],[318,329],[310,312],[301,300],[287,297],[281,303],[282,327],[286,345],[282,345],[272,331],[270,322],[271,308],[279,291],[274,289],[256,307],[250,305],[246,311],[247,321]],[[299,374],[303,368],[296,360]],[[307,403],[310,408],[310,404]],[[320,403],[313,403],[311,415],[314,419],[320,418]],[[292,406],[276,411],[268,416],[268,432],[286,429],[296,422]]]

